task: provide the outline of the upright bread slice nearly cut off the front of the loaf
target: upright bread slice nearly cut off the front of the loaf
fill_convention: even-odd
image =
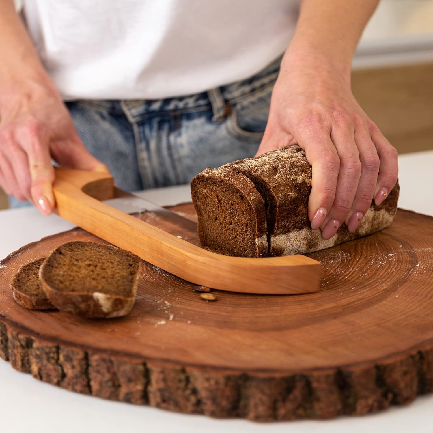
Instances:
[[[207,168],[191,181],[191,193],[203,246],[240,257],[268,255],[265,203],[248,178]]]

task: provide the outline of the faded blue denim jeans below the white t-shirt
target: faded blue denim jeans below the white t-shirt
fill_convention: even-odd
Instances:
[[[268,120],[280,58],[243,81],[163,100],[77,100],[78,135],[120,188],[189,183],[206,167],[254,156]],[[13,197],[11,207],[25,205]]]

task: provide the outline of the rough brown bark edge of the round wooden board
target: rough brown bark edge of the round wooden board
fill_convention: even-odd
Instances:
[[[254,421],[362,415],[433,392],[433,342],[370,365],[255,374],[63,346],[0,316],[0,358],[15,370],[81,394]]]

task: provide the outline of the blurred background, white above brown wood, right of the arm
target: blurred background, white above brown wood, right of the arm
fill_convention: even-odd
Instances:
[[[355,54],[352,88],[399,153],[433,149],[433,0],[381,1]]]

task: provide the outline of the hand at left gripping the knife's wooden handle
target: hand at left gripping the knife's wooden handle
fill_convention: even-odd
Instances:
[[[85,148],[52,83],[27,81],[25,87],[1,95],[0,187],[48,215],[55,206],[51,158],[69,168],[108,168]]]

